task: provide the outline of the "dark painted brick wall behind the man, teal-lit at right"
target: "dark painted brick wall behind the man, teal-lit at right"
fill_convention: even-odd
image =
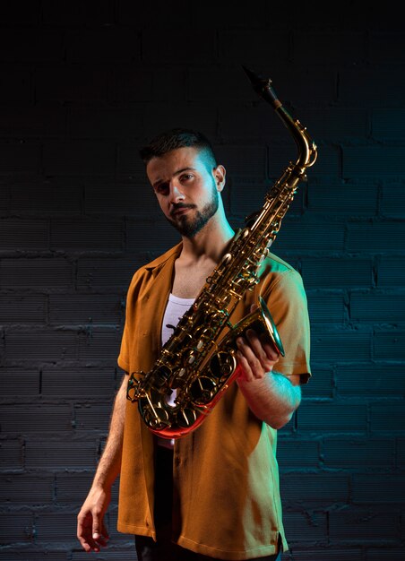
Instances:
[[[313,378],[280,431],[285,557],[402,558],[405,41],[380,8],[0,4],[1,561],[87,558],[75,516],[122,375],[125,291],[177,241],[138,147],[173,125],[210,136],[235,225],[296,156],[242,64],[319,148],[273,246],[312,323]],[[94,558],[134,558],[115,524],[116,487]]]

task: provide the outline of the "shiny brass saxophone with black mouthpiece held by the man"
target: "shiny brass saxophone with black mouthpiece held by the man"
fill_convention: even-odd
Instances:
[[[280,103],[271,80],[246,67],[244,70],[254,90],[271,103],[289,129],[298,157],[265,195],[262,210],[254,213],[244,229],[237,230],[227,253],[180,319],[151,371],[129,377],[127,399],[138,403],[146,426],[163,438],[186,436],[207,418],[240,372],[236,340],[246,329],[266,332],[284,356],[280,335],[261,297],[257,309],[240,322],[233,325],[230,318],[246,290],[258,283],[258,268],[279,232],[297,184],[306,179],[306,168],[315,163],[317,151],[306,128]],[[174,390],[176,397],[171,401]]]

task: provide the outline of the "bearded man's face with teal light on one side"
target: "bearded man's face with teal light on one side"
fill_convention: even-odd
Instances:
[[[182,236],[194,237],[218,211],[217,169],[195,148],[178,148],[148,163],[160,208]]]

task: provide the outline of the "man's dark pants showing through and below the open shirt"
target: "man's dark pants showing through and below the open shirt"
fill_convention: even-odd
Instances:
[[[156,488],[159,497],[155,505],[156,534],[158,541],[146,536],[135,536],[138,561],[211,561],[207,557],[181,548],[171,541],[171,511],[173,503],[173,453],[157,446]],[[267,557],[255,557],[250,561],[281,561],[281,552]]]

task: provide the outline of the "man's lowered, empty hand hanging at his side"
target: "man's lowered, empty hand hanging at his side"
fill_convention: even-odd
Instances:
[[[108,531],[104,524],[104,514],[111,500],[111,488],[91,488],[77,515],[77,538],[82,548],[89,552],[99,552],[100,547],[107,546]]]

